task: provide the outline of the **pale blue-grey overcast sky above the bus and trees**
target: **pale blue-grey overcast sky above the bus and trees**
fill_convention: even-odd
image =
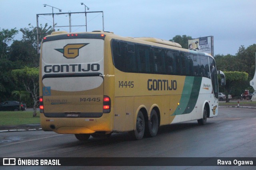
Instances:
[[[236,55],[241,45],[256,43],[256,0],[0,0],[0,30],[36,27],[36,14],[84,12],[87,31],[111,31],[124,37],[170,40],[214,37],[214,55]],[[49,6],[44,7],[43,4]],[[56,9],[58,8],[58,9]],[[102,12],[103,18],[102,19]],[[39,25],[53,24],[52,15],[39,15]],[[56,29],[68,31],[68,14],[54,15]],[[85,15],[71,15],[72,32],[86,31]],[[14,39],[20,40],[22,33]]]

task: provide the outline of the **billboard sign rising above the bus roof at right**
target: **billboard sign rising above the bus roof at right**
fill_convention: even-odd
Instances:
[[[188,40],[188,49],[196,49],[200,52],[209,53],[214,56],[213,36]]]

